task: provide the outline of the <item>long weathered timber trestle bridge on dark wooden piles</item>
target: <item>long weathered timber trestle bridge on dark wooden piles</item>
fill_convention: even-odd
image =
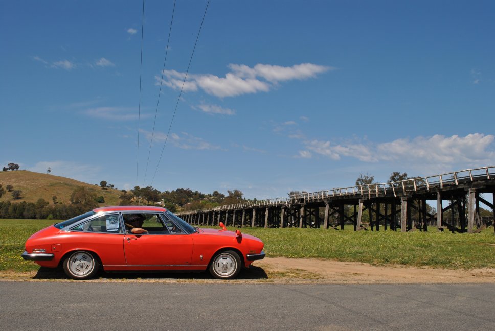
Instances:
[[[480,194],[491,194],[495,201],[495,166],[467,169],[428,177],[396,182],[334,188],[333,190],[301,193],[290,198],[246,201],[208,209],[178,212],[194,225],[219,225],[265,228],[344,229],[378,231],[400,229],[402,232],[428,231],[434,224],[440,231],[480,232],[493,224],[493,218],[483,222],[480,202],[493,209],[493,204]],[[427,200],[436,200],[437,212],[430,214]],[[450,202],[443,207],[443,201]],[[459,224],[444,218],[457,211]],[[369,222],[363,223],[364,212]],[[414,214],[414,217],[412,216]],[[495,215],[494,215],[495,216]],[[484,223],[484,224],[483,224]]]

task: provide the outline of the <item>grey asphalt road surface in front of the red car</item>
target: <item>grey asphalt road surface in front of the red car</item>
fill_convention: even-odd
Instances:
[[[492,330],[495,285],[0,281],[2,330]]]

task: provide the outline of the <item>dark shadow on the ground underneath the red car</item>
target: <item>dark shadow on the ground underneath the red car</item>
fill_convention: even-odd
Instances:
[[[263,268],[251,265],[249,268],[241,269],[241,272],[235,279],[267,279]],[[68,279],[63,272],[62,268],[44,268],[40,267],[36,272],[36,275],[32,279]],[[149,272],[105,272],[102,269],[98,271],[93,279],[211,279],[214,278],[208,271],[202,272],[161,272],[161,271],[149,271]]]

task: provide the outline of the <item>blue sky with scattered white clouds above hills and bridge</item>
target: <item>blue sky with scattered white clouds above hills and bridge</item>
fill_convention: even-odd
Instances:
[[[495,3],[211,0],[158,165],[205,6],[156,112],[173,2],[145,3],[138,156],[142,2],[0,2],[0,162],[259,199],[495,164]]]

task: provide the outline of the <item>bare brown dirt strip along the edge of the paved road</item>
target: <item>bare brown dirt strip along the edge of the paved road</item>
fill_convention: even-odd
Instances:
[[[73,281],[61,270],[2,272],[0,280]],[[448,270],[404,266],[374,266],[315,258],[267,257],[243,270],[238,279],[212,279],[203,273],[104,273],[90,282],[194,282],[194,283],[495,283],[495,269]]]

